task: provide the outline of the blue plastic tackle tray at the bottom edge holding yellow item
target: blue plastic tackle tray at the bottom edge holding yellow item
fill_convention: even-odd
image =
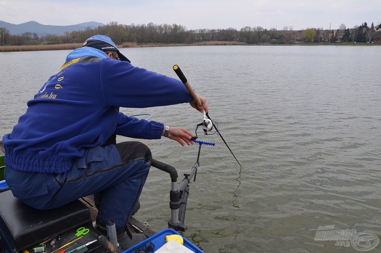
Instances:
[[[166,243],[165,237],[167,235],[180,235],[180,234],[178,232],[174,231],[173,229],[164,229],[164,230],[158,232],[157,234],[152,235],[151,237],[147,238],[146,240],[136,244],[134,247],[139,248],[139,247],[143,246],[147,241],[151,241],[155,245],[155,249],[154,249],[154,251],[149,251],[149,252],[155,252],[156,250],[161,248]],[[182,235],[180,235],[180,236],[184,239],[183,245],[185,247],[187,247],[190,250],[197,252],[197,253],[205,253],[204,251],[197,248],[193,243],[189,242],[189,240],[184,238]],[[134,248],[134,247],[131,247],[128,250],[123,251],[123,253],[130,253],[132,248]]]

